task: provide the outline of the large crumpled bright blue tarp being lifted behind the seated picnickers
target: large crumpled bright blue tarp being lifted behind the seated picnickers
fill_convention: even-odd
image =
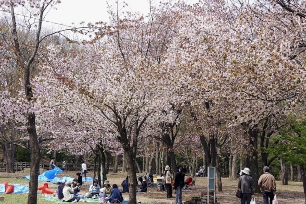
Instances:
[[[38,176],[39,181],[50,181],[52,183],[60,183],[62,182],[62,179],[65,179],[66,181],[72,182],[74,178],[72,177],[56,177],[57,174],[62,173],[62,169],[58,168],[57,166],[53,170],[46,171]],[[30,176],[26,176],[25,179],[30,179]],[[85,181],[85,178],[83,178],[83,182]],[[87,177],[87,182],[92,183],[93,178]]]

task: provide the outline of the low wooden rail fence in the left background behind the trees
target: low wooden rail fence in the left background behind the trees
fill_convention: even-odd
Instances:
[[[47,169],[49,170],[49,163],[43,163],[41,162],[39,164],[39,168]],[[81,164],[65,164],[63,166],[62,163],[55,164],[59,168],[65,171],[74,171],[74,172],[81,172],[82,167]],[[30,168],[30,163],[29,162],[15,162],[15,171],[21,171],[24,172],[25,168]],[[87,171],[94,171],[95,164],[87,164]],[[110,166],[109,172],[112,172],[114,169],[114,166]],[[118,167],[118,171],[122,171],[122,167]],[[6,172],[6,164],[5,163],[0,163],[0,172]]]

